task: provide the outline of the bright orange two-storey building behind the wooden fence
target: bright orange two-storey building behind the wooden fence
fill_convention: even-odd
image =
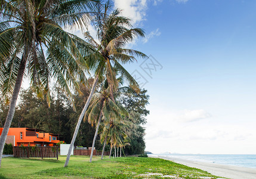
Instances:
[[[3,128],[0,128],[0,135]],[[55,146],[58,140],[57,134],[46,133],[40,129],[10,128],[5,143],[13,146]]]

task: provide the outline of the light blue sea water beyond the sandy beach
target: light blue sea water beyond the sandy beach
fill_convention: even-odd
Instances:
[[[192,155],[192,154],[159,154],[158,156],[180,158],[189,161],[210,162],[223,165],[256,168],[256,155]]]

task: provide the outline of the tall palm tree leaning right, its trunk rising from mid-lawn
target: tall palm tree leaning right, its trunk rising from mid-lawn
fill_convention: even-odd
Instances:
[[[99,43],[96,39],[92,38],[89,32],[84,33],[86,41],[91,44],[95,51],[94,54],[87,56],[87,64],[94,70],[95,78],[87,103],[85,103],[84,109],[79,116],[64,167],[69,163],[79,126],[90,104],[98,80],[101,80],[106,75],[109,85],[112,86],[111,89],[115,91],[118,88],[118,81],[116,80],[116,73],[113,67],[116,67],[121,72],[121,75],[128,79],[132,87],[138,87],[137,82],[125,70],[122,64],[133,62],[136,60],[135,56],[147,58],[147,55],[140,51],[125,48],[125,45],[132,42],[137,36],[144,36],[144,30],[132,28],[129,18],[119,16],[119,10],[114,10],[109,14],[111,9],[112,4],[110,1],[107,1],[105,4],[97,4],[97,13],[94,14],[94,19],[91,22],[97,30],[97,40]],[[94,63],[95,60],[97,60],[97,63]]]

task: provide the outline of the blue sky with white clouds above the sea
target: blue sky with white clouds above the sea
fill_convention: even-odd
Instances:
[[[162,64],[148,83],[146,150],[255,154],[256,1],[116,0],[146,30],[132,48]],[[147,62],[145,62],[147,63]]]

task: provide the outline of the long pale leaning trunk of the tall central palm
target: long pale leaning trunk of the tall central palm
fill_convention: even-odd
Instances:
[[[72,152],[72,149],[73,149],[73,146],[74,146],[74,143],[75,143],[75,140],[76,140],[76,135],[78,135],[78,131],[79,131],[79,127],[80,127],[80,124],[82,122],[82,119],[84,118],[84,115],[85,115],[85,112],[90,104],[90,101],[91,101],[91,98],[92,98],[92,94],[94,93],[95,91],[95,88],[96,88],[96,85],[98,83],[98,75],[96,76],[96,78],[94,79],[93,81],[93,84],[92,84],[92,87],[91,87],[91,92],[90,92],[90,95],[85,103],[85,106],[84,106],[84,109],[82,110],[82,113],[81,115],[79,116],[79,119],[78,119],[78,124],[76,124],[76,129],[75,129],[75,132],[73,134],[73,138],[72,138],[72,141],[70,143],[70,146],[69,146],[69,152],[67,153],[67,158],[66,158],[66,162],[64,164],[64,167],[67,167],[67,165],[69,165],[69,159],[70,159],[70,155],[71,155],[71,152]]]

